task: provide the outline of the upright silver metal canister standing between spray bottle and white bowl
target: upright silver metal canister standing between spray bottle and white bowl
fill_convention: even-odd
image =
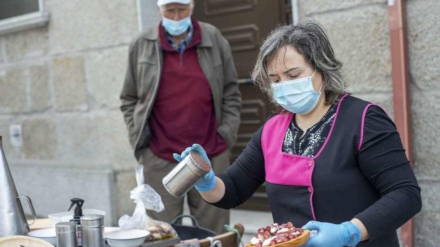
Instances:
[[[105,247],[104,217],[84,215],[80,218],[82,228],[82,247]]]

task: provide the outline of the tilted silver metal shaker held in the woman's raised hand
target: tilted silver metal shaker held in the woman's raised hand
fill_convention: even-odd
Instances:
[[[191,151],[163,177],[162,184],[169,194],[182,198],[210,169],[208,161],[203,156]]]

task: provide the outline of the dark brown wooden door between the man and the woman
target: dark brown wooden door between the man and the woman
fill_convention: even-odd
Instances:
[[[271,113],[267,98],[252,85],[250,72],[262,39],[277,25],[291,23],[290,0],[195,0],[193,16],[216,26],[231,47],[242,94],[233,161]],[[264,185],[240,208],[270,211]]]

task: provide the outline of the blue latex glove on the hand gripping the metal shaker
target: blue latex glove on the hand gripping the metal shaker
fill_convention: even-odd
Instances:
[[[198,145],[198,144],[192,144],[191,147],[187,147],[185,149],[185,151],[183,151],[180,155],[174,153],[172,154],[172,157],[180,162],[182,161],[191,151],[195,151],[198,152],[199,154],[201,154],[201,156],[203,156],[203,158],[205,158],[208,161],[210,170],[209,172],[203,176],[203,178],[199,179],[197,181],[197,183],[195,183],[195,189],[199,192],[207,192],[212,190],[212,188],[214,188],[215,186],[215,176],[214,176],[214,172],[212,171],[212,167],[211,167],[211,162],[208,159],[208,156],[206,155],[206,152],[204,151],[204,149]]]

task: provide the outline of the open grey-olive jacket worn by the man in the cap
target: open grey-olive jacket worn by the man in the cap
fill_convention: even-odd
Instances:
[[[211,88],[217,132],[231,149],[240,123],[241,95],[230,46],[216,27],[198,23],[201,29],[201,42],[197,45],[198,63]],[[161,68],[162,51],[155,25],[131,42],[120,93],[120,110],[136,159],[139,159],[140,151],[148,147],[151,137],[147,120],[157,93]]]

